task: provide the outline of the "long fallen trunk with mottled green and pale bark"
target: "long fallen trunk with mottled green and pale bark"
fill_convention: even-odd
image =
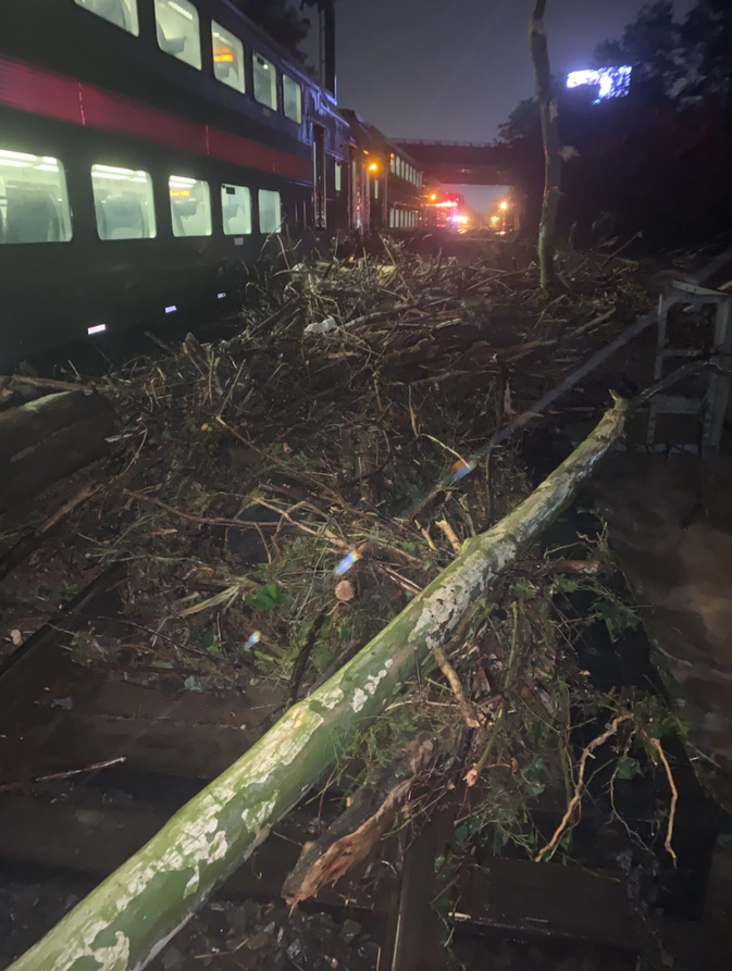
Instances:
[[[144,968],[332,764],[337,751],[431,664],[493,580],[572,500],[621,436],[616,401],[593,434],[512,513],[460,556],[330,681],[295,705],[183,807],[12,971]]]

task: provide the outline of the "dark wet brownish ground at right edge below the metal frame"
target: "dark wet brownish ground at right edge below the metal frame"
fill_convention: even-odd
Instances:
[[[732,458],[618,453],[595,485],[693,742],[732,797]],[[709,762],[712,769],[712,762]],[[727,777],[725,777],[727,776]],[[732,805],[732,802],[730,804]]]

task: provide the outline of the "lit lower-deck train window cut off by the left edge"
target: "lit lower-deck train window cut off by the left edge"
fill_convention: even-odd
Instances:
[[[69,242],[66,175],[58,159],[0,150],[0,245]]]

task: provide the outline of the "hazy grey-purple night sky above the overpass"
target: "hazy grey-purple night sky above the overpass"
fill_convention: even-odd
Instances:
[[[643,0],[548,0],[556,75],[591,66]],[[685,11],[692,0],[677,0]],[[532,0],[338,0],[338,100],[392,137],[489,141],[533,94]]]

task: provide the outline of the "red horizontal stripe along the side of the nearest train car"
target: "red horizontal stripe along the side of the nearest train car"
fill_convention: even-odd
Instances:
[[[309,160],[298,155],[1,57],[0,103],[29,114],[154,141],[285,178],[309,182],[311,175]]]

